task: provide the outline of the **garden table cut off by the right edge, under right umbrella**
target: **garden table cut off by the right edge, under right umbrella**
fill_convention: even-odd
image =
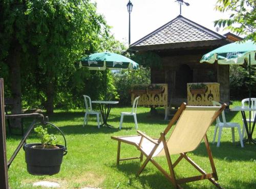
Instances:
[[[252,123],[252,127],[251,127],[251,122],[249,122],[249,127],[246,121],[246,116],[245,116],[245,112],[246,111],[256,111],[256,108],[253,107],[248,107],[248,106],[236,106],[233,107],[232,109],[230,109],[230,111],[241,111],[242,114],[242,118],[244,121],[244,125],[245,125],[245,130],[247,133],[247,139],[244,141],[244,143],[249,142],[249,144],[252,142],[254,144],[256,144],[256,141],[252,139],[252,133],[255,127],[255,123],[256,123],[256,116],[254,117],[253,123]]]

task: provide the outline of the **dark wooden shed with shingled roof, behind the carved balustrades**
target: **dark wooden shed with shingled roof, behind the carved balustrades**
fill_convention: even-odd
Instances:
[[[229,65],[199,61],[205,53],[237,40],[241,38],[230,33],[220,35],[179,15],[129,49],[160,56],[162,68],[151,69],[151,82],[168,84],[171,105],[187,101],[187,83],[219,83],[220,101],[229,102]]]

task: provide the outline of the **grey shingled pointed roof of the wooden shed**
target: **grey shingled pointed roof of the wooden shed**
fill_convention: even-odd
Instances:
[[[222,40],[225,38],[225,36],[211,31],[204,26],[179,15],[175,19],[161,26],[159,29],[131,44],[130,47],[212,41]]]

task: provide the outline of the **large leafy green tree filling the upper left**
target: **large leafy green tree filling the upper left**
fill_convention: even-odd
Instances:
[[[9,70],[4,76],[16,101],[12,113],[21,112],[28,93],[53,113],[54,99],[69,91],[74,62],[100,48],[109,26],[89,0],[6,0],[0,12],[0,72]]]

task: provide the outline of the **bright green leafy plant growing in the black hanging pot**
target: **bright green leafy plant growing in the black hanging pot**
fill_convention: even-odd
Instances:
[[[57,143],[57,138],[53,134],[49,134],[47,128],[42,128],[42,126],[38,126],[34,128],[34,131],[37,133],[38,137],[40,137],[41,144],[44,148],[47,146],[55,146]]]

